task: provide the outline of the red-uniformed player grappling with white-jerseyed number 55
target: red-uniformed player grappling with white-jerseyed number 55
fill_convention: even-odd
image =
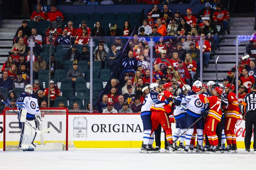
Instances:
[[[168,149],[170,153],[178,153],[177,149],[172,147],[172,129],[171,124],[174,123],[174,116],[172,113],[172,100],[169,100],[173,97],[172,93],[170,92],[170,88],[172,88],[172,83],[165,83],[164,84],[164,91],[159,95],[159,100],[164,101],[165,105],[162,107],[155,107],[153,104],[151,107],[151,122],[152,122],[152,131],[151,134],[157,129],[159,123],[161,124],[162,128],[165,131],[165,137],[168,144]]]

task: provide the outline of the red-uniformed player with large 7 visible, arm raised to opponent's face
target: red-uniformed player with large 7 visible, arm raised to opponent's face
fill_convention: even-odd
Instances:
[[[201,90],[201,89],[200,89]],[[199,99],[203,103],[209,103],[210,104],[210,110],[208,112],[206,123],[204,125],[204,131],[209,139],[210,149],[207,151],[210,151],[210,153],[220,153],[220,147],[218,145],[218,136],[216,134],[216,127],[217,124],[220,123],[220,119],[222,116],[221,112],[221,97],[223,90],[220,87],[215,87],[212,89],[212,96],[205,97],[203,94],[199,95]],[[205,117],[204,114],[205,110],[201,110],[201,115]]]

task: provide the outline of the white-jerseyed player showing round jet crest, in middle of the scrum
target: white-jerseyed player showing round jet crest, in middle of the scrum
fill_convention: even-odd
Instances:
[[[195,123],[200,117],[201,117],[201,109],[205,108],[204,103],[202,103],[199,99],[199,94],[196,94],[195,89],[202,88],[201,81],[195,81],[192,90],[188,92],[188,95],[185,97],[185,101],[187,103],[187,116],[186,116],[186,123],[187,127],[190,127],[193,123]],[[204,94],[204,96],[206,96]],[[192,152],[194,145],[190,144],[192,134],[194,131],[195,125],[192,126],[190,129],[188,129],[186,134],[186,147],[184,149],[185,153],[188,151]],[[204,153],[204,147],[203,147],[203,129],[204,129],[204,119],[200,119],[196,122],[196,132],[197,132],[197,139],[198,139],[198,145],[199,145],[199,152]],[[190,144],[190,145],[189,145]]]

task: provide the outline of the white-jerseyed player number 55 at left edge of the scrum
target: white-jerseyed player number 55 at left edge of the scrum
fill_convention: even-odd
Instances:
[[[150,89],[155,89],[159,85],[157,83],[151,83],[150,84]],[[145,88],[142,89],[144,91]],[[151,134],[152,130],[152,122],[151,122],[151,111],[150,108],[154,104],[155,107],[161,107],[166,103],[169,103],[169,100],[166,100],[166,102],[162,102],[157,98],[158,94],[155,92],[149,92],[147,96],[145,96],[145,99],[143,101],[143,105],[141,107],[141,113],[140,117],[142,119],[143,123],[143,130],[144,130],[144,135],[143,135],[143,144],[142,147],[140,148],[140,153],[152,153],[152,152],[158,152],[152,145],[154,142],[154,132]],[[150,135],[151,134],[151,135]]]

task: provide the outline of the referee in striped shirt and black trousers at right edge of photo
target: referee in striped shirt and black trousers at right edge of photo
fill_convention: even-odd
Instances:
[[[256,83],[251,85],[251,92],[244,96],[241,110],[242,119],[245,120],[245,151],[250,152],[253,125],[253,150],[256,154]]]

